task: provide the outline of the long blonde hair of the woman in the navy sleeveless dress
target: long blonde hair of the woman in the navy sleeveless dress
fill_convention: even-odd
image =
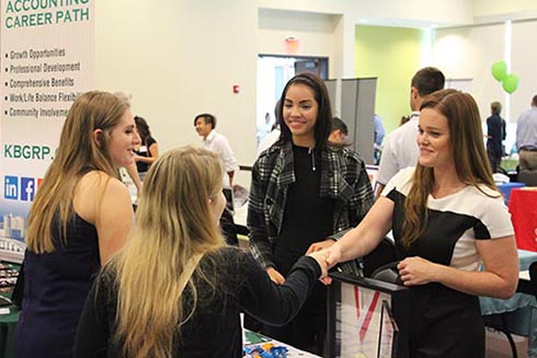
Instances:
[[[91,91],[77,97],[61,129],[55,159],[30,209],[26,244],[31,251],[55,251],[52,231],[56,215],[65,240],[67,222],[73,215],[75,188],[85,173],[115,175],[108,153],[110,132],[128,107],[124,97],[107,92]],[[103,130],[100,145],[93,139],[95,129]]]

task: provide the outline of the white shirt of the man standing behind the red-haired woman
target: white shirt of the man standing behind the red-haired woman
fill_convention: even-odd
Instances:
[[[386,138],[377,183],[386,185],[401,169],[415,166],[420,158],[416,142],[419,120],[420,112],[412,112],[410,120]]]

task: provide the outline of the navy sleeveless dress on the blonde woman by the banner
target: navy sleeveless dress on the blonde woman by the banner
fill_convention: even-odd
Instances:
[[[16,358],[71,358],[80,313],[100,268],[95,227],[75,215],[67,240],[58,240],[56,251],[24,257],[24,300],[14,336]]]

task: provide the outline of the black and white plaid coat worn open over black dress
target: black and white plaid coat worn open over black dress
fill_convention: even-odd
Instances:
[[[374,203],[365,164],[350,148],[327,147],[321,153],[321,193],[335,199],[333,239],[357,226]],[[274,145],[255,161],[248,205],[250,250],[263,267],[274,266],[273,252],[282,229],[287,188],[295,182],[293,145]]]

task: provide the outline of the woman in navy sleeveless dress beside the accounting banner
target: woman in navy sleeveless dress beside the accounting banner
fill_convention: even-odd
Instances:
[[[94,275],[124,245],[134,213],[116,169],[140,143],[124,96],[77,97],[30,209],[18,358],[71,358]]]

